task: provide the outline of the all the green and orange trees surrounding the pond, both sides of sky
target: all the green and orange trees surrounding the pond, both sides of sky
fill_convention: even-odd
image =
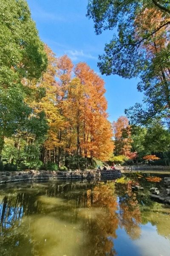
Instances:
[[[25,0],[0,0],[1,170],[170,164],[169,4],[88,2],[97,34],[118,28],[101,73],[140,76],[144,108],[136,103],[111,124],[103,79],[40,40]]]

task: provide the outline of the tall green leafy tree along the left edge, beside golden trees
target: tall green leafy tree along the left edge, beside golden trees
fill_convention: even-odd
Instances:
[[[35,115],[24,101],[28,89],[23,80],[38,80],[47,57],[25,0],[0,0],[0,31],[1,156],[5,137],[23,132],[40,135],[37,127],[43,125],[45,134],[43,114]]]

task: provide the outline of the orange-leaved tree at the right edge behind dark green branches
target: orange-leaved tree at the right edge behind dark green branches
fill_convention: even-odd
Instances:
[[[167,24],[162,26],[162,24]],[[158,29],[159,28],[159,29]],[[170,61],[168,49],[170,47],[170,16],[164,15],[160,9],[145,8],[135,20],[136,38],[141,41],[140,48],[145,51],[148,63],[153,63],[152,69],[147,71],[147,77],[139,83],[138,89],[144,91],[145,98],[155,108],[164,111],[169,118],[170,109]],[[155,31],[155,33],[153,33]],[[150,80],[149,80],[150,79]],[[153,108],[152,108],[153,111]],[[164,114],[165,116],[165,114]]]

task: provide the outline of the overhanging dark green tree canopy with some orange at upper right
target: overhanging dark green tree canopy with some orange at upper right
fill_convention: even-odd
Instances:
[[[144,103],[126,110],[133,123],[170,114],[170,3],[165,0],[89,0],[87,16],[96,34],[113,30],[113,39],[99,55],[102,74],[140,76]],[[116,32],[117,29],[117,32]]]

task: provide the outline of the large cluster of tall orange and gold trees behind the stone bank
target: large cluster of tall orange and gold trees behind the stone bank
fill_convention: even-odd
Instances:
[[[41,100],[31,99],[35,111],[44,111],[48,134],[43,145],[43,162],[62,164],[65,156],[77,154],[108,160],[113,152],[113,132],[108,121],[104,81],[86,63],[75,67],[67,55],[57,58],[45,46],[47,71],[39,84]]]

